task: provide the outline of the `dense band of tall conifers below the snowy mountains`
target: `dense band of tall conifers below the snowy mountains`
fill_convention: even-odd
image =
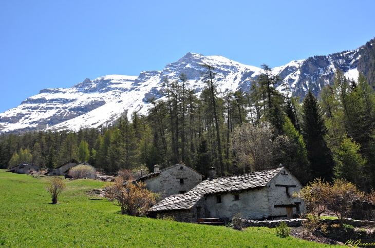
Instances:
[[[2,133],[0,168],[26,161],[52,169],[74,158],[116,173],[182,161],[207,177],[211,167],[227,176],[283,164],[304,185],[338,178],[374,188],[375,93],[366,77],[337,69],[317,96],[300,98],[277,91],[282,78],[262,69],[248,92],[219,92],[215,68],[202,65],[199,96],[185,74],[164,78],[165,97],[148,99],[146,115],[78,132]]]

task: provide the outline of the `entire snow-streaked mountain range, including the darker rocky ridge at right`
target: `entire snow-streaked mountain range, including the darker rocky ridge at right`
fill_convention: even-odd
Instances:
[[[367,45],[367,50],[373,50],[372,43]],[[294,95],[304,96],[308,89],[317,95],[321,87],[332,81],[336,68],[343,70],[350,79],[358,77],[359,64],[366,68],[361,62],[361,49],[294,60],[272,71],[284,78]],[[113,122],[122,114],[130,117],[134,111],[145,114],[151,107],[147,99],[163,97],[161,90],[165,77],[174,81],[183,72],[190,87],[199,94],[205,87],[202,64],[215,68],[220,91],[239,88],[246,91],[261,72],[259,67],[243,65],[222,56],[187,53],[162,71],[143,71],[138,77],[108,75],[95,80],[86,78],[68,89],[41,90],[21,102],[20,106],[0,114],[0,132],[79,130]],[[279,87],[279,90],[284,91],[285,87]]]

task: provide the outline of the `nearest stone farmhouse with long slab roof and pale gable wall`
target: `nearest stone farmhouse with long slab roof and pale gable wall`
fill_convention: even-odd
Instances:
[[[237,214],[253,220],[292,219],[305,209],[303,201],[292,197],[302,188],[284,167],[220,178],[211,168],[209,179],[189,192],[164,198],[150,212],[151,216],[174,216],[183,222],[231,220]]]

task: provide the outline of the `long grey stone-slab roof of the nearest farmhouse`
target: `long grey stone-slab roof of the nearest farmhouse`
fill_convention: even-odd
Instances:
[[[279,167],[236,176],[206,179],[189,192],[164,198],[154,205],[150,211],[190,209],[204,195],[263,188],[283,169],[283,167]]]

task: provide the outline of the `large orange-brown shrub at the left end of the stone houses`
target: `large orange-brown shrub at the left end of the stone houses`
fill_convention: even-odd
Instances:
[[[113,185],[105,186],[105,196],[121,207],[121,214],[142,216],[155,204],[152,192],[144,189],[145,185],[144,182],[133,184],[132,180],[124,181],[117,178]]]

